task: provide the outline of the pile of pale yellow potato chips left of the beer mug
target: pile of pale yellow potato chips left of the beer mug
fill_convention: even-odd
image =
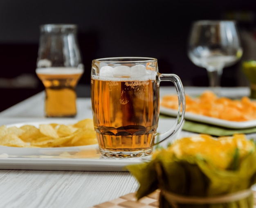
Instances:
[[[0,145],[9,147],[73,147],[97,144],[92,119],[75,124],[57,123],[0,127]]]

